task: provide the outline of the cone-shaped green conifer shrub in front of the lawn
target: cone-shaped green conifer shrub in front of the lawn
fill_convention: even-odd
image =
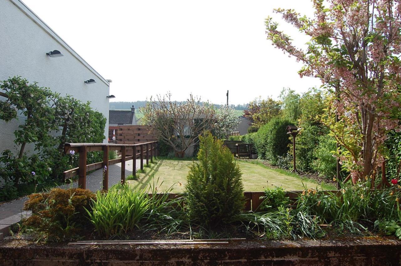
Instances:
[[[245,204],[241,169],[210,132],[200,141],[198,161],[190,167],[185,186],[190,218],[202,226],[229,224]]]

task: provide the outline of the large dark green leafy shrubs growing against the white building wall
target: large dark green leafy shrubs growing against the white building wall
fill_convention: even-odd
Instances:
[[[54,184],[54,180],[61,180],[63,171],[76,167],[78,160],[73,162],[63,154],[66,142],[98,143],[105,138],[106,118],[92,110],[90,102],[60,96],[19,76],[0,83],[8,96],[0,105],[0,119],[16,119],[17,111],[26,116],[14,132],[18,153],[4,150],[0,156],[0,164],[4,165],[0,168],[0,183],[4,186],[0,200],[18,196],[22,193],[20,185],[35,188],[45,182]],[[29,143],[34,145],[35,155],[26,154]],[[87,162],[100,162],[102,156],[102,152],[89,152]]]

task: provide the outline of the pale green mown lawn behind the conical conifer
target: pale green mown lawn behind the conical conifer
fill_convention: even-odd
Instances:
[[[150,168],[144,168],[146,173],[140,173],[138,180],[128,180],[135,188],[148,188],[149,184],[157,183],[158,191],[167,190],[173,186],[172,192],[182,192],[186,183],[186,175],[192,161],[158,159],[156,164],[150,164]],[[303,190],[320,186],[315,180],[301,179],[296,174],[290,174],[282,170],[268,168],[261,164],[239,161],[242,170],[242,180],[245,191],[263,191],[265,188],[281,186],[284,190]],[[158,182],[157,182],[158,180]],[[162,183],[163,182],[163,183]],[[335,189],[333,186],[323,184],[323,189]]]

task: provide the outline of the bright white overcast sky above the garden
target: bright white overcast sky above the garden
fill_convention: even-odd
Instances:
[[[302,64],[266,39],[264,20],[304,47],[308,38],[273,8],[313,16],[309,0],[23,0],[105,79],[111,101],[146,100],[171,92],[215,104],[302,93],[317,78],[300,78]]]

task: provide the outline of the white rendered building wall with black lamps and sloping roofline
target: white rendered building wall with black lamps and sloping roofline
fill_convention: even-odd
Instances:
[[[82,102],[90,101],[92,109],[107,118],[107,142],[109,82],[20,0],[0,0],[0,10],[0,80],[21,76],[62,96],[69,94]],[[63,56],[46,55],[53,50]],[[84,83],[90,79],[96,83]],[[0,104],[2,100],[0,96]],[[19,119],[8,123],[0,120],[0,151],[14,150],[14,131],[24,118]],[[32,146],[27,149],[32,150]]]

